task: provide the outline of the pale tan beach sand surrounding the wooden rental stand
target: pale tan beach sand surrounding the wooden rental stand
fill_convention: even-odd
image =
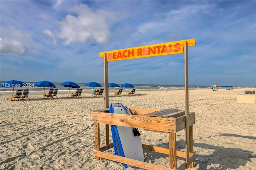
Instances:
[[[255,88],[189,91],[189,110],[196,117],[195,170],[256,169],[256,105],[236,103],[236,95],[245,90]],[[58,92],[59,99],[42,99],[42,94],[30,92],[30,100],[26,101],[6,101],[11,93],[1,93],[0,169],[124,169],[123,164],[96,160],[92,155],[92,110],[104,108],[104,99],[84,91],[83,98],[71,99],[67,93]],[[109,103],[144,109],[185,109],[184,90],[136,91],[135,94],[110,96]],[[143,129],[140,132],[142,143],[168,147],[165,133]],[[102,138],[103,133],[104,130],[100,134]],[[184,134],[182,130],[176,135],[179,150],[185,150]],[[146,150],[144,155],[146,162],[169,166],[168,155]]]

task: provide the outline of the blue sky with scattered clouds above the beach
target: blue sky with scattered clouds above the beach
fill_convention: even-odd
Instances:
[[[0,1],[0,80],[104,83],[102,51],[196,39],[189,85],[256,86],[256,1]],[[108,63],[109,82],[184,85],[184,54]]]

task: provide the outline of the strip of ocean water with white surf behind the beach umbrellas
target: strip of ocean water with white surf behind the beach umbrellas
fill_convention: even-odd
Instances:
[[[3,83],[2,81],[0,83]],[[16,89],[30,89],[29,91],[44,91],[44,87],[35,87],[34,84],[36,82],[26,82],[25,87],[14,87],[14,91]],[[54,83],[56,86],[56,89],[59,89],[59,91],[69,91],[69,87],[62,87],[60,86],[61,83]],[[92,87],[86,87],[86,83],[77,83],[80,86],[80,89],[83,89],[85,91],[92,91]],[[101,84],[102,87],[94,87],[98,89],[104,89],[104,84]],[[121,85],[121,84],[118,84]],[[178,90],[178,89],[185,89],[184,85],[146,85],[146,84],[133,84],[134,89],[137,90]],[[122,89],[126,89],[125,87],[121,87]],[[200,85],[191,85],[188,87],[189,89],[207,89],[208,86],[200,86]],[[45,87],[45,90],[48,91],[50,87]],[[109,87],[110,90],[112,90],[112,87]],[[118,90],[119,87],[113,87],[113,90]],[[133,88],[128,88],[133,89]],[[75,88],[70,88],[70,91],[76,91]],[[7,93],[7,92],[13,92],[12,87],[0,87],[0,93]]]

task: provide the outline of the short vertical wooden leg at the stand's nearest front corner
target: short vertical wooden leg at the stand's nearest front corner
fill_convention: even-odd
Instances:
[[[176,134],[169,133],[169,161],[170,168],[177,169]]]

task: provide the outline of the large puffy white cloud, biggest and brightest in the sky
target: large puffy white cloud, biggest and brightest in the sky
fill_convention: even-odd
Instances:
[[[78,16],[67,15],[62,22],[60,22],[61,32],[58,37],[65,39],[65,45],[72,42],[96,42],[104,43],[108,40],[110,32],[108,24],[113,20],[113,14],[104,10],[92,12],[87,5],[74,6],[72,12]],[[107,23],[108,18],[112,18]]]

